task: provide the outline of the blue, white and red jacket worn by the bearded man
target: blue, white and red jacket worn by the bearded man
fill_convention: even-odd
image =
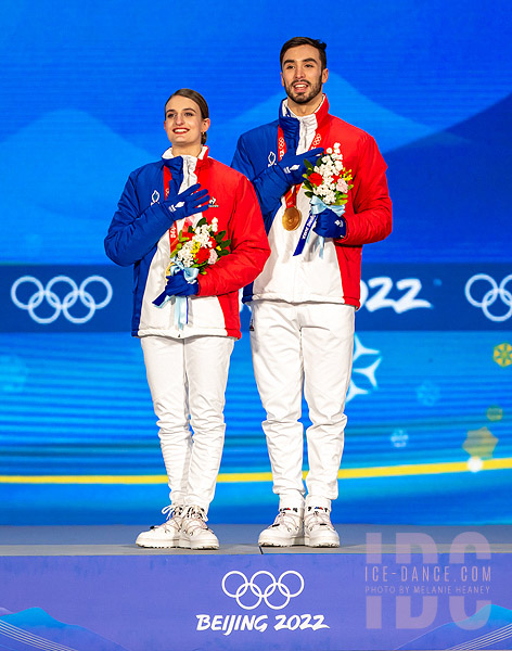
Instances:
[[[338,142],[345,169],[353,171],[354,188],[348,193],[343,215],[346,237],[327,239],[323,257],[319,255],[318,237],[312,231],[303,253],[293,255],[309,213],[309,199],[303,186],[297,193],[302,225],[295,231],[283,228],[282,215],[286,207],[283,195],[287,188],[283,188],[283,179],[276,171],[279,127],[287,152],[300,154],[312,146],[327,150]],[[320,144],[318,133],[322,135]],[[392,230],[387,166],[374,139],[330,115],[325,95],[319,108],[306,116],[294,115],[283,100],[279,119],[240,137],[231,165],[254,184],[272,251],[264,271],[245,289],[244,302],[321,302],[359,307],[362,245],[383,240]]]

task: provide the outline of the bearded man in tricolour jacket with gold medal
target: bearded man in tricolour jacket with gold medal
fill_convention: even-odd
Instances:
[[[271,246],[261,275],[244,292],[253,311],[253,363],[279,495],[279,514],[261,532],[261,546],[340,546],[330,512],[347,420],[361,247],[392,230],[386,164],[375,141],[329,114],[322,93],[329,77],[325,47],[306,37],[284,43],[281,81],[287,98],[279,119],[244,133],[232,163],[254,184]],[[315,164],[335,143],[354,186],[344,215],[324,209],[306,240],[310,205],[300,186],[306,161]],[[297,254],[299,242],[305,244]],[[303,387],[312,423],[306,433],[307,496],[298,422]]]

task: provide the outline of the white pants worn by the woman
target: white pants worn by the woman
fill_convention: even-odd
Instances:
[[[222,336],[141,337],[175,507],[199,506],[207,511],[214,499],[233,344],[232,337]]]

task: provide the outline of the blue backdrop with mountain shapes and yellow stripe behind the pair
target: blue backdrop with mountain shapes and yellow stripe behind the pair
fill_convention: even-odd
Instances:
[[[485,12],[440,0],[0,7],[1,523],[139,522],[165,506],[128,335],[130,270],[110,264],[103,238],[128,174],[167,146],[168,95],[206,97],[210,153],[229,164],[239,135],[277,116],[280,47],[305,33],[328,42],[332,113],[386,158],[395,216],[363,253],[334,514],[512,521],[509,11],[505,0]],[[213,516],[263,522],[276,499],[246,332],[226,416]]]

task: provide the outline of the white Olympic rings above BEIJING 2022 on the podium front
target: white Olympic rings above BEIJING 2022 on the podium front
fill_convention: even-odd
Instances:
[[[289,586],[285,583],[283,583],[283,579],[286,575],[298,577],[299,588],[296,592],[292,592]],[[240,578],[242,579],[241,585],[236,588],[234,592],[230,592],[226,587],[226,582],[230,576],[240,576]],[[270,579],[266,587],[261,588],[255,583],[258,576],[267,576]],[[266,583],[267,580],[264,580],[264,584]],[[226,576],[222,578],[222,590],[228,597],[236,599],[236,603],[240,605],[240,608],[243,608],[244,610],[254,610],[255,608],[258,608],[261,601],[265,601],[268,608],[271,608],[272,610],[281,610],[283,608],[286,608],[286,605],[290,603],[290,600],[293,597],[297,597],[304,590],[304,578],[298,572],[295,572],[295,570],[289,570],[287,572],[283,572],[281,576],[276,580],[273,574],[267,572],[266,570],[260,570],[259,572],[255,572],[251,577],[251,580],[248,580],[243,572],[233,570],[232,572],[228,572],[228,574],[226,574]],[[251,592],[256,597],[255,603],[249,603],[248,605],[242,603],[241,599],[247,592],[247,590],[251,590]],[[281,595],[284,597],[284,602],[281,604],[271,603],[269,600],[269,597],[272,597],[276,590],[279,590],[279,592],[281,592]]]

